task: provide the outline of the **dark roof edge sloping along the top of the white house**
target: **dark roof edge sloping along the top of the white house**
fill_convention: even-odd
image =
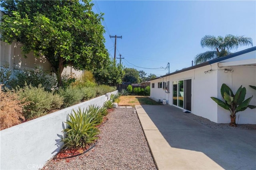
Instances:
[[[173,74],[177,74],[177,73],[180,73],[180,72],[184,72],[184,71],[188,71],[188,70],[192,70],[192,69],[195,69],[195,68],[199,68],[199,67],[202,67],[202,66],[206,66],[206,65],[210,65],[210,64],[213,64],[213,63],[218,63],[220,61],[223,61],[223,60],[226,60],[226,59],[230,59],[232,57],[236,57],[238,55],[242,55],[242,54],[245,54],[245,53],[249,53],[251,51],[256,51],[256,47],[252,47],[252,48],[249,48],[249,49],[245,49],[245,50],[242,50],[242,51],[238,51],[236,53],[233,53],[233,54],[230,54],[230,55],[227,55],[225,57],[220,57],[220,58],[217,58],[217,59],[213,59],[213,60],[210,60],[210,61],[206,61],[204,63],[201,63],[201,64],[196,64],[194,66],[190,66],[188,68],[184,68],[182,70],[178,70],[176,72],[172,72],[172,73],[169,73],[169,74],[165,74],[164,76],[160,76],[160,77],[166,77],[166,76],[170,76],[170,75],[173,75]],[[160,77],[157,77],[157,78],[154,78],[152,80],[156,80]]]

